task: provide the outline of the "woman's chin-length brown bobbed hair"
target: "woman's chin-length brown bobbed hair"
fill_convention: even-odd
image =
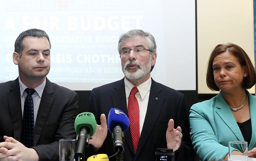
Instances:
[[[244,77],[243,79],[242,88],[244,89],[252,88],[252,86],[254,86],[256,82],[255,68],[252,65],[252,62],[248,57],[248,55],[246,54],[246,52],[241,47],[233,43],[219,44],[213,49],[208,61],[208,67],[207,67],[207,73],[206,73],[206,84],[208,88],[210,88],[210,90],[220,91],[220,89],[216,86],[214,82],[212,62],[214,60],[214,57],[216,57],[216,55],[219,55],[224,52],[233,54],[238,59],[240,65],[245,67],[247,77]]]

